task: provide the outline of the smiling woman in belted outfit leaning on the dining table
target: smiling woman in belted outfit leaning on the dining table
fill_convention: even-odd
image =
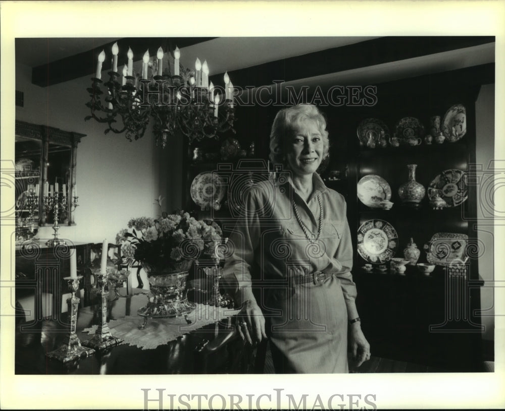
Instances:
[[[348,372],[348,344],[357,366],[370,358],[345,200],[316,172],[328,155],[325,129],[314,105],[277,113],[270,159],[286,171],[250,188],[230,236],[223,278],[241,307],[238,332],[249,343],[268,335],[277,373]]]

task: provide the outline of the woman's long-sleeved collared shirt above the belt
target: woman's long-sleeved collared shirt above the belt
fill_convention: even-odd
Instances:
[[[311,243],[298,222],[306,224]],[[312,231],[312,236],[310,232]],[[223,280],[235,302],[255,300],[253,288],[268,288],[307,272],[334,273],[340,280],[348,318],[358,317],[356,284],[352,281],[352,244],[343,196],[328,189],[317,173],[307,202],[297,193],[288,173],[252,186],[244,199],[242,215],[229,238],[234,250],[226,260]]]

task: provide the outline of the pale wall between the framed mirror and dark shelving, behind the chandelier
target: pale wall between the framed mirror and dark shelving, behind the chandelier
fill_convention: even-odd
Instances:
[[[105,73],[104,73],[105,75]],[[77,150],[76,185],[79,206],[75,226],[62,226],[61,237],[79,242],[114,242],[116,233],[131,217],[160,214],[155,199],[165,197],[164,209],[182,204],[180,171],[182,144],[165,150],[155,147],[151,126],[140,140],[104,135],[104,125],[84,121],[89,114],[86,88],[90,78],[50,87],[31,84],[31,68],[16,65],[16,90],[24,92],[25,106],[16,107],[16,120],[86,134]],[[51,238],[51,227],[37,237]]]

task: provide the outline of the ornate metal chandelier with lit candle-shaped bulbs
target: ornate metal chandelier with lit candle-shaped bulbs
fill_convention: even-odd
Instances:
[[[96,74],[87,88],[90,100],[86,106],[91,115],[84,120],[106,123],[105,134],[125,133],[132,141],[142,138],[149,119],[153,119],[156,144],[163,148],[179,132],[190,144],[204,138],[217,139],[217,133],[228,130],[235,133],[234,88],[228,73],[224,75],[224,88],[214,86],[212,81],[209,83],[207,61],[202,64],[196,58],[195,69],[185,69],[179,63],[178,47],[173,52],[173,75],[168,59],[163,70],[165,53],[161,47],[157,58],[150,58],[149,50],[144,53],[141,73],[133,70],[133,51],[129,48],[128,62],[119,73],[118,54],[116,42],[112,46],[112,68],[107,82],[102,80],[105,51],[98,55]]]

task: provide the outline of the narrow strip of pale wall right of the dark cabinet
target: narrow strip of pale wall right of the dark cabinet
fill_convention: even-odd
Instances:
[[[481,87],[475,105],[476,115],[476,162],[482,164],[483,170],[487,170],[489,162],[494,159],[494,84],[486,84]],[[483,180],[484,181],[484,180]],[[480,206],[477,207],[478,217],[478,239],[484,245],[484,253],[479,259],[479,274],[484,280],[494,279],[494,250],[493,250],[493,220],[484,218],[482,206],[492,206],[485,204],[488,200],[482,196],[477,199]],[[482,323],[486,327],[484,339],[492,341],[494,339],[494,300],[493,293],[500,288],[481,288],[481,306],[483,309],[489,308],[482,317]]]

